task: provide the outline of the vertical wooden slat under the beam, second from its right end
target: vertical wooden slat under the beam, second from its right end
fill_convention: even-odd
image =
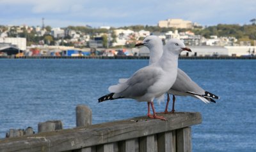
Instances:
[[[158,152],[173,152],[172,132],[158,134]]]

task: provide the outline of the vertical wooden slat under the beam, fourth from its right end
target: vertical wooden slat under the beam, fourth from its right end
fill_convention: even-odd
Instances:
[[[120,152],[139,152],[139,140],[129,139],[126,141],[120,141],[118,144],[118,151]]]

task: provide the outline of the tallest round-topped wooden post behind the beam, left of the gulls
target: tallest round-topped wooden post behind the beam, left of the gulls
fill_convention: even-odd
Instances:
[[[92,125],[92,110],[84,105],[77,105],[76,107],[76,126],[88,127]]]

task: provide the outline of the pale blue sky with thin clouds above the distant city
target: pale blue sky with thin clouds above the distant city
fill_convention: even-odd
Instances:
[[[92,27],[157,25],[181,18],[200,25],[250,24],[255,0],[0,0],[0,25]]]

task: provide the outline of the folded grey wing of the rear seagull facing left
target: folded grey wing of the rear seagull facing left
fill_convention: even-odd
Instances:
[[[194,92],[198,95],[204,95],[205,90],[198,86],[188,74],[184,73],[178,68],[178,74],[175,83],[173,84],[172,90],[177,92]]]

